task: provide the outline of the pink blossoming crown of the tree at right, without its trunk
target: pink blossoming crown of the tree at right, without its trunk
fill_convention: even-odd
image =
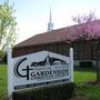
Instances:
[[[100,21],[96,20],[93,12],[89,16],[73,17],[72,20],[80,24],[73,29],[78,39],[97,40],[100,37]]]

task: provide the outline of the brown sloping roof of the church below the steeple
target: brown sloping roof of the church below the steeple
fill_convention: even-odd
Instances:
[[[100,24],[100,20],[94,21],[94,23]],[[100,26],[99,26],[100,28]],[[21,47],[29,47],[29,46],[37,46],[37,44],[46,44],[46,43],[53,43],[53,42],[61,42],[61,41],[70,41],[70,40],[76,40],[78,37],[74,37],[74,31],[73,29],[80,29],[80,24],[71,26],[71,27],[66,27],[52,31],[48,31],[44,33],[36,34],[34,37],[31,37],[16,46],[16,48],[21,48]],[[81,32],[81,30],[79,31]]]

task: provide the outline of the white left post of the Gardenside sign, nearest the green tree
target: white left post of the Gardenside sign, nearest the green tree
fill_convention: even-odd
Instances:
[[[8,46],[7,48],[7,59],[8,59],[8,98],[9,100],[12,100],[12,91],[13,91],[13,87],[12,87],[12,72],[13,72],[13,68],[12,68],[12,54],[11,54],[11,47]]]

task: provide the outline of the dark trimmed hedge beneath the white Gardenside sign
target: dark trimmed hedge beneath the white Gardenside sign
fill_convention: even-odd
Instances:
[[[21,90],[12,93],[13,100],[67,100],[71,98],[73,83]]]

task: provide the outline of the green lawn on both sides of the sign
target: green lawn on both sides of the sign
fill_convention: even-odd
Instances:
[[[96,72],[74,71],[74,97],[86,99],[78,100],[100,100],[100,86],[88,86],[86,82],[94,81]],[[7,66],[0,64],[0,100],[7,94]],[[77,99],[73,99],[77,100]]]

